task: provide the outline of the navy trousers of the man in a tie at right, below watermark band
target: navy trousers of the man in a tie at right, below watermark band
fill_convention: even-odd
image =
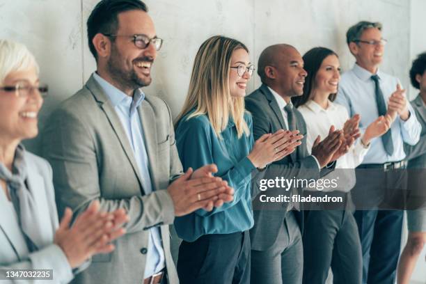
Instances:
[[[354,216],[363,253],[363,283],[395,283],[403,211],[357,210]]]

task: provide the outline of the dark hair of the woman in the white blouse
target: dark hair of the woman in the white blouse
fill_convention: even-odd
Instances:
[[[324,59],[329,55],[336,55],[339,57],[336,52],[333,52],[333,50],[326,47],[314,47],[303,55],[303,69],[308,72],[308,76],[306,76],[305,84],[303,84],[303,95],[292,97],[292,103],[294,104],[294,107],[299,107],[302,104],[306,104],[306,102],[311,99],[311,93],[315,84],[315,77],[317,77],[317,72],[321,67],[322,61],[324,61]],[[331,102],[336,100],[336,94],[331,94],[329,96],[329,100],[331,100]]]

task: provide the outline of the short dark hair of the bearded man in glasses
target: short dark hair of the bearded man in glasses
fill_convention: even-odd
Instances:
[[[90,52],[97,59],[97,52],[93,45],[93,38],[97,33],[115,34],[118,29],[118,14],[129,10],[143,10],[148,12],[148,6],[141,0],[102,0],[87,20],[87,37]],[[114,38],[111,38],[113,41]]]

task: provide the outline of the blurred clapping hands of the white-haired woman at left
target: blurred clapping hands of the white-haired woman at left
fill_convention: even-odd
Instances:
[[[99,208],[99,201],[95,200],[72,227],[72,211],[68,207],[65,209],[54,244],[63,250],[72,268],[79,267],[97,253],[110,253],[114,246],[109,243],[125,234],[125,229],[121,228],[129,220],[125,210],[107,213],[100,212]]]

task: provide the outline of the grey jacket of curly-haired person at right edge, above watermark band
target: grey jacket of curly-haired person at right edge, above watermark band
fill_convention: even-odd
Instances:
[[[426,168],[426,107],[420,95],[411,101],[411,106],[413,106],[418,122],[422,125],[422,132],[420,132],[420,140],[416,145],[404,143],[406,159],[409,160],[408,168]]]

